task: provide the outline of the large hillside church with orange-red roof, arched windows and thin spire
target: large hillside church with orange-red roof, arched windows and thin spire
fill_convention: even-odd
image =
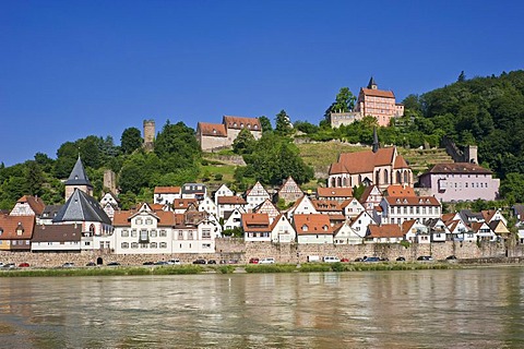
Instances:
[[[384,190],[390,184],[413,186],[413,172],[396,147],[379,147],[377,130],[371,151],[342,153],[330,167],[330,188],[377,185]]]

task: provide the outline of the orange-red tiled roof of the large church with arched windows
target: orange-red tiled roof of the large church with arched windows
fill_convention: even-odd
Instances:
[[[371,173],[376,167],[395,165],[395,147],[379,148],[376,153],[373,151],[342,153],[338,161],[331,165],[330,174]],[[402,157],[402,155],[396,155],[396,157]]]

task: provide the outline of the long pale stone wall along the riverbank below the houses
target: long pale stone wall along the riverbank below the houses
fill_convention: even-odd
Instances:
[[[245,242],[242,239],[217,239],[216,252],[207,254],[114,254],[109,251],[84,251],[80,253],[34,253],[0,251],[0,262],[27,262],[32,266],[57,267],[63,263],[82,266],[90,262],[107,264],[119,262],[122,265],[141,265],[144,262],[179,258],[182,263],[192,263],[196,258],[235,260],[248,263],[251,257],[274,257],[277,263],[305,263],[308,256],[337,256],[354,261],[357,257],[378,256],[394,261],[398,256],[414,261],[420,255],[431,255],[434,260],[444,260],[455,255],[460,260],[483,260],[503,257],[524,257],[524,245],[505,248],[502,242],[441,242],[431,244],[412,244],[407,248],[397,243],[374,243],[357,245],[296,244],[271,242]]]

